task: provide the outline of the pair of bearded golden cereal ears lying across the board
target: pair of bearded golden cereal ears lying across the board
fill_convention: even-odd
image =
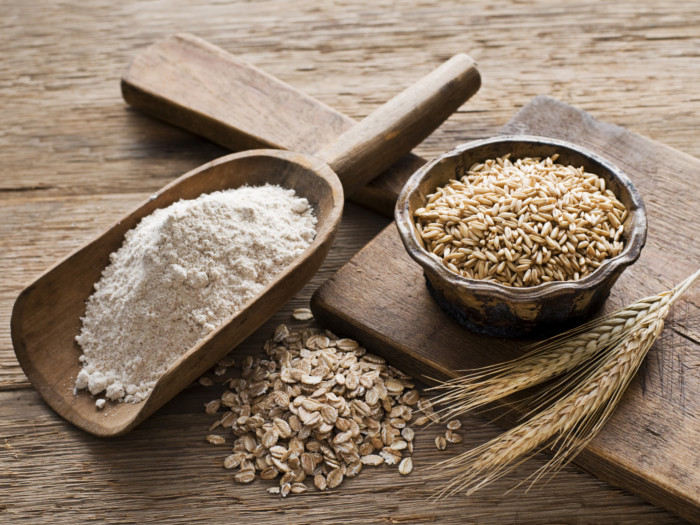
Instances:
[[[663,330],[671,306],[698,277],[700,270],[671,290],[545,341],[541,348],[522,358],[477,371],[463,382],[448,382],[448,393],[441,399],[457,403],[456,409],[449,410],[454,414],[570,372],[570,377],[540,396],[540,405],[529,414],[530,419],[479,447],[435,465],[437,471],[433,477],[449,478],[436,497],[462,490],[472,494],[545,446],[553,449],[554,456],[531,476],[533,483],[573,459],[609,419]],[[508,385],[511,378],[515,386]],[[460,390],[461,385],[464,390]]]

